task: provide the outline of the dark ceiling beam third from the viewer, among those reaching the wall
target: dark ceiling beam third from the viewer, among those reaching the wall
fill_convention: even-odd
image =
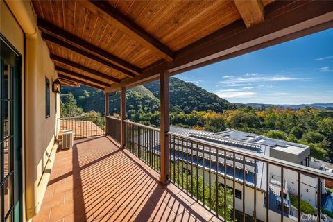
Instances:
[[[133,72],[128,71],[127,69],[123,69],[122,67],[119,67],[117,65],[114,65],[112,62],[109,62],[107,60],[103,60],[99,56],[96,56],[92,53],[89,53],[83,49],[80,49],[73,44],[69,44],[68,42],[65,42],[63,40],[60,40],[60,38],[55,37],[53,35],[49,35],[47,33],[42,33],[42,38],[46,41],[52,42],[53,44],[57,44],[58,46],[61,46],[62,48],[68,49],[70,51],[74,51],[74,53],[78,53],[82,56],[85,56],[86,58],[89,58],[90,60],[94,60],[96,62],[99,62],[107,67],[110,67],[111,69],[115,69],[117,71],[120,71],[122,74],[125,74],[128,77],[135,77],[136,75],[133,74]]]

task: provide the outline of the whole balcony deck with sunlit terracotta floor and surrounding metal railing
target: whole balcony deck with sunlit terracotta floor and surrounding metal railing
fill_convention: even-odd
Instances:
[[[163,160],[158,128],[123,121],[121,135],[120,119],[88,118],[59,120],[80,139],[56,154],[33,221],[304,221],[305,198],[327,219],[316,206],[333,176],[259,155],[267,146],[171,131]]]

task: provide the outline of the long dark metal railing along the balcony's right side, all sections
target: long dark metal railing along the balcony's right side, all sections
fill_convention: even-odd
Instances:
[[[108,134],[119,140],[114,132],[120,132],[121,121],[109,119],[108,122]],[[123,122],[128,151],[160,171],[160,129]],[[262,155],[260,153],[269,147],[259,144],[217,137],[198,139],[197,135],[187,137],[171,132],[167,137],[168,180],[222,220],[276,221],[280,218],[278,221],[302,221],[301,216],[305,213],[301,212],[304,204],[301,198],[307,196],[305,192],[312,192],[312,198],[315,198],[315,212],[311,212],[311,218],[319,221],[323,217],[322,186],[325,180],[333,180],[329,173]],[[282,181],[271,184],[271,176],[275,180],[291,177],[293,184]],[[316,184],[311,191],[305,186],[307,180]],[[284,187],[286,185],[291,189]],[[297,199],[292,207],[288,194],[291,191]],[[309,218],[307,214],[305,216]]]

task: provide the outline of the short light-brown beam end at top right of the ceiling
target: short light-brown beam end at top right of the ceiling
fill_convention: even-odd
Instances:
[[[234,0],[247,28],[264,22],[264,5],[261,0]]]

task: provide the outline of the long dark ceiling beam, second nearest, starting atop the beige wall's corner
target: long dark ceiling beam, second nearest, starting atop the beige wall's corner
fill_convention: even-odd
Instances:
[[[37,25],[43,32],[48,33],[49,35],[61,37],[62,40],[65,40],[65,42],[69,42],[69,44],[74,44],[80,47],[80,49],[88,51],[89,53],[94,53],[96,56],[100,56],[106,60],[110,60],[111,62],[114,62],[116,65],[119,65],[120,67],[129,69],[130,71],[133,71],[136,74],[141,74],[142,72],[142,69],[136,67],[135,65],[130,64],[130,62],[127,62],[126,60],[114,56],[112,53],[109,53],[108,51],[105,51],[104,49],[101,49],[98,46],[91,44],[90,42],[80,39],[76,35],[73,35],[62,28],[54,26],[53,24],[41,18],[37,18]]]

